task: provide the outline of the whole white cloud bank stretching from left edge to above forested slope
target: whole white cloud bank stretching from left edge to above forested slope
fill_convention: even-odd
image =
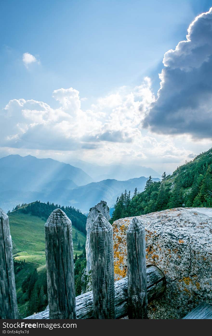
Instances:
[[[10,100],[0,111],[0,148],[36,156],[45,152],[43,157],[62,161],[74,151],[83,160],[104,164],[179,163],[191,154],[175,146],[169,136],[156,139],[141,130],[141,121],[155,101],[149,78],[134,88],[121,87],[98,98],[87,110],[81,108],[74,88],[54,90],[53,97],[59,108],[33,99]]]

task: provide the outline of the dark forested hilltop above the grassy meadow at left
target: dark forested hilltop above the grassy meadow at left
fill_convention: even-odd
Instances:
[[[85,226],[87,217],[82,214],[79,209],[75,209],[71,206],[64,207],[60,204],[58,205],[50,202],[42,203],[40,201],[36,201],[30,204],[18,204],[13,209],[13,211],[16,211],[17,213],[31,214],[33,216],[47,219],[51,212],[58,208],[63,210],[66,215],[71,219],[72,225],[74,225],[79,231],[83,232],[86,235]],[[8,213],[10,213],[10,211]]]

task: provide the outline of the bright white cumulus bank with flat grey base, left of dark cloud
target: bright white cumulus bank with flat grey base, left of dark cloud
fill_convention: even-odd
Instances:
[[[42,150],[95,149],[100,143],[132,143],[141,138],[139,125],[154,101],[148,78],[133,89],[122,87],[82,110],[79,91],[53,91],[57,109],[36,100],[12,99],[0,113],[1,146]]]

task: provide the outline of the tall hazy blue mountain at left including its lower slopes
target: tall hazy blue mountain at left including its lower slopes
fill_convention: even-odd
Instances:
[[[9,155],[0,159],[0,207],[8,210],[17,201],[44,201],[45,194],[57,195],[92,181],[84,171],[67,163]]]

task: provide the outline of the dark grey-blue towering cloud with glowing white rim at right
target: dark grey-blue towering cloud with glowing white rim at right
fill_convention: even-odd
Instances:
[[[143,121],[162,134],[212,138],[212,8],[197,16],[186,41],[168,50],[158,97]]]

